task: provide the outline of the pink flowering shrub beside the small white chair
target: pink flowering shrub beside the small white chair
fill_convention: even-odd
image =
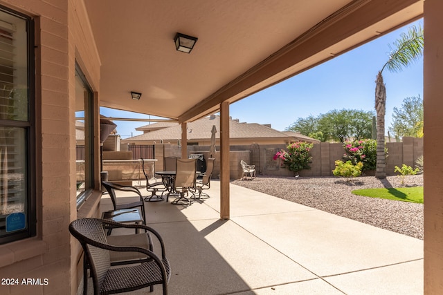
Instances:
[[[303,169],[311,169],[309,163],[312,161],[309,151],[311,151],[314,144],[308,142],[293,142],[286,147],[287,151],[278,151],[275,153],[273,159],[282,161],[282,166],[289,171],[298,172]]]

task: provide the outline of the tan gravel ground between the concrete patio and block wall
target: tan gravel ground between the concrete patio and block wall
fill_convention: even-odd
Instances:
[[[408,175],[404,184],[398,176],[378,180],[374,176],[354,178],[275,178],[258,176],[253,181],[235,180],[241,187],[284,200],[388,229],[423,240],[423,204],[356,196],[354,189],[423,186],[423,175]]]

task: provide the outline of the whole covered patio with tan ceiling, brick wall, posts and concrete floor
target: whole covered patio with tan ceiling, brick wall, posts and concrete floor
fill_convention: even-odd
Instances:
[[[2,30],[22,40],[10,65],[23,81],[10,92],[26,90],[11,102],[28,114],[0,120],[20,139],[8,157],[20,159],[26,208],[18,212],[24,225],[0,233],[0,273],[48,281],[1,285],[1,294],[81,292],[82,249],[68,228],[108,204],[100,106],[179,122],[183,158],[188,122],[220,112],[213,198],[186,209],[147,204],[168,245],[171,294],[442,293],[442,1],[0,0],[0,10]],[[230,185],[230,104],[422,17],[424,241]],[[191,53],[176,50],[178,32],[198,38]],[[82,193],[78,120],[87,146]]]

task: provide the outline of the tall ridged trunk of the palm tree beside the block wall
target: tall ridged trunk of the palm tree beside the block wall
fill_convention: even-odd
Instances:
[[[381,71],[377,75],[375,87],[375,109],[377,111],[377,166],[375,177],[386,178],[385,155],[385,113],[386,113],[386,86],[383,83]]]

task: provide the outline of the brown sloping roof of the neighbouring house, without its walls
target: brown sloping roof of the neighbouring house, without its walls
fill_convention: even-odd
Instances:
[[[156,123],[161,124],[161,123]],[[155,124],[152,124],[155,125]],[[219,138],[220,131],[220,117],[219,115],[211,115],[210,117],[204,117],[194,122],[187,124],[188,140],[208,140],[212,133],[211,130],[215,125],[217,133],[215,137]],[[269,126],[257,124],[257,123],[243,123],[238,120],[230,120],[229,122],[229,137],[232,139],[246,139],[246,138],[286,138],[297,137],[298,133],[287,134],[270,128]],[[310,137],[307,137],[310,138]],[[181,126],[170,126],[164,129],[144,133],[134,137],[129,137],[124,141],[134,142],[141,140],[180,140],[181,139]],[[314,140],[311,138],[311,140]],[[314,140],[315,141],[315,140]]]

